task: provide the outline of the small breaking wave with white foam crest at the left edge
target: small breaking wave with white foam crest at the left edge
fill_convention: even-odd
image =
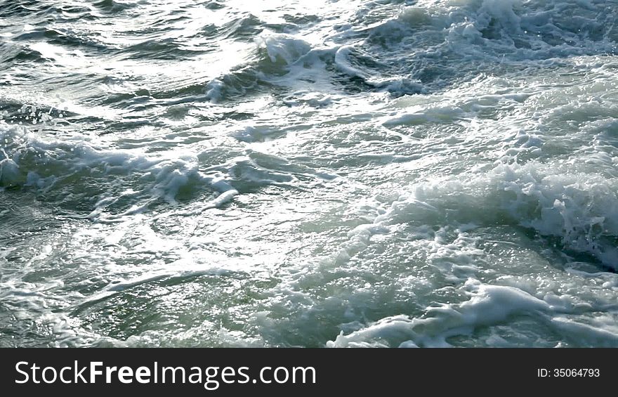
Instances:
[[[186,190],[193,196],[205,191],[223,204],[216,196],[233,190],[221,174],[202,174],[190,153],[147,157],[81,140],[44,139],[18,126],[0,126],[0,141],[1,187],[34,188],[45,200],[90,211],[92,219],[134,214],[159,200],[174,204]]]

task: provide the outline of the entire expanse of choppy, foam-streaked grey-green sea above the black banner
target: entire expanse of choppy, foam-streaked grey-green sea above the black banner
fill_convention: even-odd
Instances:
[[[0,1],[0,346],[618,346],[618,1]]]

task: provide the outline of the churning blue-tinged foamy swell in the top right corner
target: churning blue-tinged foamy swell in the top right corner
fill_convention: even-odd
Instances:
[[[435,91],[480,72],[510,74],[560,58],[617,53],[616,13],[611,4],[581,1],[419,1],[395,18],[352,30],[364,39],[340,51],[337,64],[370,84],[412,81]]]

